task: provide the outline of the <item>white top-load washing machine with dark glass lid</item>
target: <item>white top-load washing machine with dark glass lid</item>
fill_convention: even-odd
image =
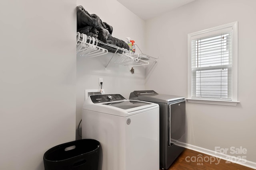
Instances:
[[[90,96],[82,139],[100,142],[102,170],[159,170],[159,106],[120,94]]]

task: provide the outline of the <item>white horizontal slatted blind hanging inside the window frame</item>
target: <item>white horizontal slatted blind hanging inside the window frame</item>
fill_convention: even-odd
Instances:
[[[232,31],[191,40],[191,97],[232,100]]]

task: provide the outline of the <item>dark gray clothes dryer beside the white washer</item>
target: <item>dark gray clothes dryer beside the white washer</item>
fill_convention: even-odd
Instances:
[[[178,146],[185,133],[186,100],[181,96],[158,94],[154,90],[134,91],[129,99],[159,105],[160,115],[160,168],[168,169],[184,150]]]

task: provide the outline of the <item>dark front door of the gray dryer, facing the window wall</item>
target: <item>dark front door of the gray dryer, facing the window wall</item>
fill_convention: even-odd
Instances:
[[[186,100],[176,101],[169,106],[169,146],[172,146],[185,133]]]

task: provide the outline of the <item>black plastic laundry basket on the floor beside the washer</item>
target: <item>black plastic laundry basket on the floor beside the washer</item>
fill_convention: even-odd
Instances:
[[[45,170],[98,170],[100,142],[80,139],[57,145],[44,153]]]

